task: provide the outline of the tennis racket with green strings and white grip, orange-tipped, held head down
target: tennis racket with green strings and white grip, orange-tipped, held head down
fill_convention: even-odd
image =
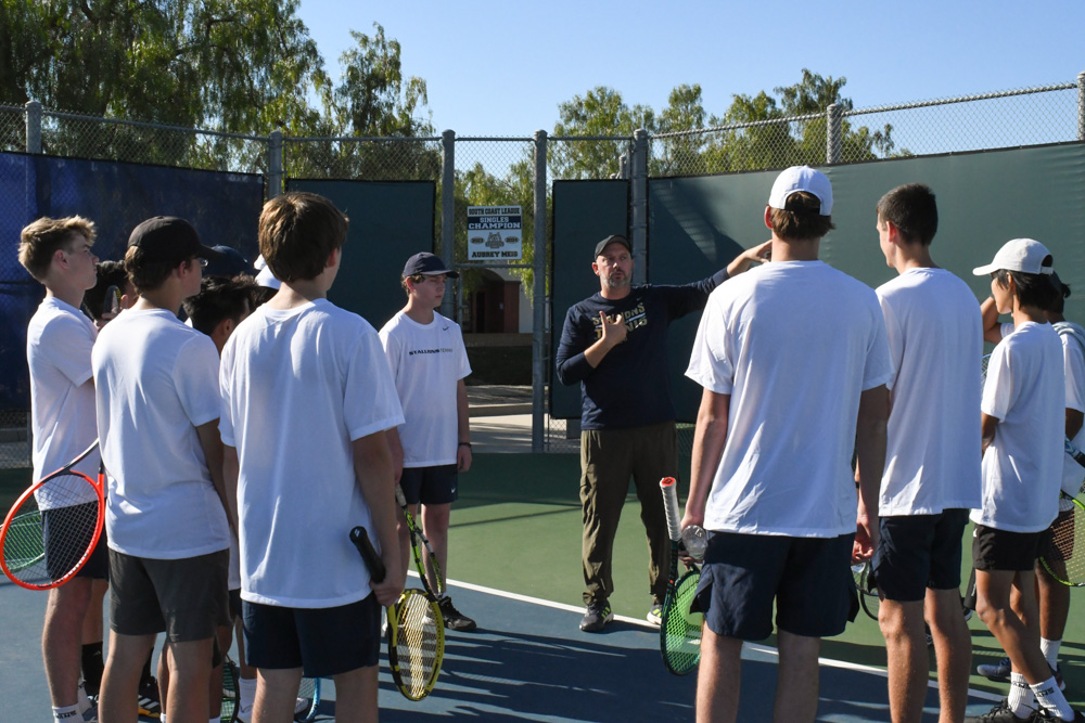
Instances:
[[[678,518],[678,486],[674,477],[660,480],[663,491],[663,507],[667,515],[667,532],[671,535],[671,574],[667,594],[663,601],[660,621],[660,651],[663,664],[675,675],[686,675],[697,668],[701,660],[701,624],[704,616],[690,612],[693,594],[701,579],[695,565],[687,564],[689,571],[678,579],[678,557],[682,550],[681,527]]]

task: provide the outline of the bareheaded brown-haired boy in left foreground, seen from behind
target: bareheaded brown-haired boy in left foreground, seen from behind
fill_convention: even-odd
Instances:
[[[255,721],[293,718],[303,670],[335,681],[337,721],[376,720],[381,606],[403,591],[385,432],[403,423],[381,340],[328,301],[347,219],[311,193],[264,205],[279,293],[222,350],[222,441],[240,512],[245,653]],[[362,526],[387,569],[370,579]]]

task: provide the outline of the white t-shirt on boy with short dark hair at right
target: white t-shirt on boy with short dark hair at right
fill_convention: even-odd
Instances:
[[[877,293],[893,360],[879,515],[979,507],[980,305],[944,269],[910,269]]]

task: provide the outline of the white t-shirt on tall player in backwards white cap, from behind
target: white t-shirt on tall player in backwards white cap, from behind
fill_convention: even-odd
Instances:
[[[892,373],[873,289],[820,261],[774,261],[717,287],[686,371],[730,395],[704,527],[854,532],[859,395]]]

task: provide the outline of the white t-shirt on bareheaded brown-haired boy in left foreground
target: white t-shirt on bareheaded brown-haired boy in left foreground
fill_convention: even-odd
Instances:
[[[222,441],[241,464],[242,598],[323,608],[368,596],[348,535],[360,525],[378,542],[352,442],[404,421],[376,332],[327,299],[263,306],[222,350],[220,385]]]

